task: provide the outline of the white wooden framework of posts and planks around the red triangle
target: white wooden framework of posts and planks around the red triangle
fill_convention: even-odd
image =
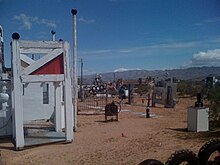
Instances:
[[[36,62],[25,54],[47,53]],[[63,55],[64,74],[44,74],[30,75],[33,71],[53,60],[60,54]],[[23,100],[22,85],[23,83],[35,82],[54,82],[55,91],[55,125],[56,131],[62,131],[61,126],[61,88],[64,86],[64,112],[66,141],[73,140],[73,116],[71,77],[70,77],[70,51],[67,42],[56,41],[22,41],[19,39],[12,40],[12,113],[13,113],[13,138],[15,148],[22,149],[24,143],[23,130]],[[29,66],[21,70],[21,60]],[[33,107],[34,108],[34,107]]]

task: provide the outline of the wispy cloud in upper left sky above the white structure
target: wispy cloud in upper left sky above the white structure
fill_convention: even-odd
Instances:
[[[56,28],[56,24],[54,21],[47,20],[45,18],[31,17],[26,14],[15,15],[14,20],[20,21],[22,23],[21,28],[30,30],[33,24],[38,25],[46,25],[48,27]]]

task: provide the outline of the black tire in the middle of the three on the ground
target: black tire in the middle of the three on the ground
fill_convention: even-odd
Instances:
[[[195,153],[190,150],[183,149],[173,153],[165,163],[165,165],[179,165],[181,163],[188,163],[189,165],[199,165],[199,159]]]

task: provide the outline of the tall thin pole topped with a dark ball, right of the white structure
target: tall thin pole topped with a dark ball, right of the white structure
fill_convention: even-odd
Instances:
[[[76,131],[77,129],[77,97],[78,97],[78,89],[77,89],[77,47],[76,47],[76,14],[77,10],[71,10],[73,16],[73,113],[74,113],[74,121],[73,121],[73,129]]]

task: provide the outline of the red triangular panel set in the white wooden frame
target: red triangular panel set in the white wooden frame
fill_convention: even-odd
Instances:
[[[38,74],[64,74],[63,54],[60,54],[31,73],[31,75]]]

